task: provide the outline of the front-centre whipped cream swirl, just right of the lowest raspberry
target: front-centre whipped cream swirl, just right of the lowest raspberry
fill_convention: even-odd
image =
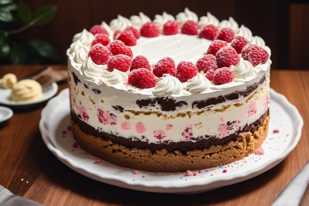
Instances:
[[[170,94],[179,94],[183,89],[182,83],[169,74],[159,78],[155,84],[153,94],[155,96],[163,96]]]

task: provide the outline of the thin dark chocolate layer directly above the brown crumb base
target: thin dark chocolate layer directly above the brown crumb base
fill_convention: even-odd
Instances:
[[[208,148],[212,145],[222,145],[226,144],[233,139],[237,138],[239,136],[239,133],[242,132],[254,132],[256,131],[259,126],[264,122],[266,117],[268,116],[269,112],[267,111],[260,119],[255,121],[253,124],[246,125],[244,128],[237,130],[236,132],[224,137],[224,138],[215,138],[213,136],[205,135],[203,138],[191,138],[193,141],[182,141],[182,142],[167,142],[167,141],[160,141],[160,144],[155,143],[148,143],[147,141],[141,141],[138,138],[134,137],[132,135],[130,138],[124,138],[122,136],[119,136],[114,133],[108,133],[106,131],[99,131],[92,127],[89,124],[86,124],[85,122],[81,121],[80,115],[77,115],[74,112],[71,112],[71,117],[73,121],[77,124],[79,124],[80,128],[91,135],[94,135],[96,137],[99,137],[103,140],[110,140],[113,143],[123,145],[127,148],[139,148],[139,149],[149,149],[152,152],[155,152],[156,150],[166,149],[167,151],[175,151],[179,150],[181,152],[186,152],[188,150],[193,149],[203,149]],[[232,123],[231,123],[232,124]],[[135,141],[132,141],[134,139]],[[196,142],[194,142],[196,141]]]

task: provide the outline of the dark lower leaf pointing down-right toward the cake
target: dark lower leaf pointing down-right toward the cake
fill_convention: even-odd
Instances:
[[[44,40],[33,40],[30,41],[30,45],[32,45],[41,56],[52,59],[56,62],[63,62],[62,56],[50,43]]]

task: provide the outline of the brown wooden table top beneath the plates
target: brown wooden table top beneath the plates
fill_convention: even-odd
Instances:
[[[40,68],[0,66],[0,77],[14,73],[22,78]],[[65,65],[53,68],[66,70]],[[70,169],[47,149],[38,128],[43,104],[15,109],[13,117],[0,124],[0,185],[46,206],[269,206],[309,160],[309,71],[272,69],[271,87],[298,108],[305,124],[288,157],[252,179],[193,195],[140,192],[95,181]],[[59,83],[59,91],[64,88],[67,82]],[[309,188],[301,206],[309,206]]]

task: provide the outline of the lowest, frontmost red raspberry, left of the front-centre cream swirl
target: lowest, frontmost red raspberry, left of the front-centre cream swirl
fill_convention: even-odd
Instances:
[[[152,88],[156,84],[154,74],[149,69],[139,68],[132,70],[128,75],[128,82],[139,88]]]

